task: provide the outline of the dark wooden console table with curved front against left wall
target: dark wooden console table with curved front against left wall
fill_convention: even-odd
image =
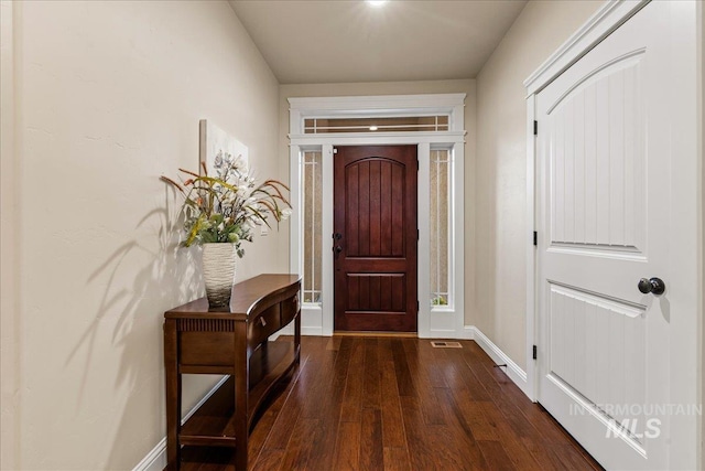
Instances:
[[[180,469],[182,446],[217,446],[235,448],[236,469],[247,471],[252,419],[274,384],[300,361],[300,289],[299,276],[260,275],[232,288],[229,311],[208,311],[208,301],[200,298],[164,313],[169,470]],[[293,320],[293,342],[268,342]],[[220,389],[229,388],[224,394],[232,400],[223,410],[206,402],[182,426],[182,374],[230,375]]]

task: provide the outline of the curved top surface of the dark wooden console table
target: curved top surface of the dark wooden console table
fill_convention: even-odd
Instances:
[[[194,314],[214,319],[247,319],[259,301],[268,296],[276,296],[280,292],[297,285],[301,281],[299,275],[293,274],[264,274],[232,287],[230,308],[208,310],[208,300],[203,297],[164,312],[166,319],[192,318]]]

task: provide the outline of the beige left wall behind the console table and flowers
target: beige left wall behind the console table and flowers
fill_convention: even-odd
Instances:
[[[227,2],[14,2],[12,149],[7,8],[2,467],[132,469],[165,435],[162,313],[203,289],[158,178],[196,168],[208,118],[285,179],[278,83]],[[286,232],[247,251],[239,279],[285,271]]]

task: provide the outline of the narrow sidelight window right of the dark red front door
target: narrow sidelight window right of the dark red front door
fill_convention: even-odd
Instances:
[[[431,304],[451,304],[451,150],[431,150]]]

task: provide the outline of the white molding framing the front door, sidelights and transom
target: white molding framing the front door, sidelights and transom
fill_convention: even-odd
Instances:
[[[446,309],[437,309],[430,302],[420,302],[417,333],[420,338],[460,339],[465,333],[464,309],[464,158],[465,158],[465,108],[466,94],[386,95],[346,97],[289,98],[290,104],[290,184],[293,214],[290,237],[290,271],[303,272],[303,206],[302,154],[306,150],[321,150],[323,157],[323,216],[322,231],[324,246],[333,233],[333,148],[334,146],[419,146],[417,174],[417,296],[419,300],[431,299],[430,275],[424,267],[430,266],[430,156],[432,148],[453,149],[453,184],[451,201],[453,207],[452,251],[449,268],[453,276],[454,303]],[[435,132],[346,132],[304,133],[304,119],[308,117],[375,117],[415,116],[448,114],[449,130]],[[328,236],[326,236],[328,234]],[[323,248],[322,290],[319,307],[302,307],[302,333],[310,335],[333,335],[333,259],[326,257]],[[445,308],[445,307],[444,307]],[[433,311],[433,315],[432,315]]]

